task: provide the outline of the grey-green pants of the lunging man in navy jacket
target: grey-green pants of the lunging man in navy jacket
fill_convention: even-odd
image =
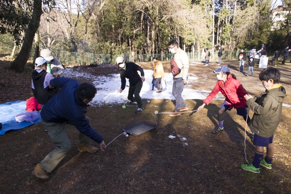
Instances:
[[[89,118],[86,116],[89,122]],[[45,122],[41,118],[41,124],[47,129],[51,141],[56,144],[43,161],[40,162],[40,167],[49,173],[58,165],[59,162],[65,157],[66,153],[71,149],[71,142],[65,132],[65,123]],[[72,125],[71,123],[68,123]],[[89,144],[90,138],[80,132],[79,139],[81,144]]]

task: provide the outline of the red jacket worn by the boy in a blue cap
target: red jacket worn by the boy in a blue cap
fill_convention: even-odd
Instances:
[[[239,109],[245,107],[246,100],[243,96],[246,95],[247,92],[242,87],[241,82],[232,78],[231,74],[228,75],[225,83],[223,83],[223,81],[216,82],[213,90],[203,101],[203,103],[208,105],[211,100],[218,94],[219,91],[223,94],[223,96],[226,97],[225,101],[231,109]]]

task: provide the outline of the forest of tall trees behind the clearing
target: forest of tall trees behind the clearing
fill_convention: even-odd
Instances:
[[[275,23],[274,5],[287,11]],[[271,54],[291,43],[291,1],[284,0],[4,0],[0,30],[21,48],[11,68],[24,69],[32,42],[69,52],[169,53],[176,39],[188,53],[267,46]]]

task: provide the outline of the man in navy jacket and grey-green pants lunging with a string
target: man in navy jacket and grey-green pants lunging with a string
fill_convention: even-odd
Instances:
[[[32,174],[37,178],[48,180],[50,173],[66,153],[71,149],[70,140],[65,131],[65,124],[74,125],[79,131],[81,144],[80,152],[94,153],[98,150],[89,144],[90,138],[97,142],[100,149],[104,151],[106,145],[103,137],[99,135],[89,124],[86,116],[88,103],[96,95],[96,88],[90,83],[79,83],[79,81],[57,77],[49,81],[49,87],[62,88],[59,93],[49,99],[41,110],[41,123],[48,130],[51,141],[56,144],[43,161],[38,163]]]

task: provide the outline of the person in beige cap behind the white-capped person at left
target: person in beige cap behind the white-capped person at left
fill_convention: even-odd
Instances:
[[[62,76],[64,67],[57,58],[52,56],[49,49],[42,49],[40,51],[40,56],[43,57],[46,61],[49,61],[47,64],[48,73],[51,73],[53,77]]]

